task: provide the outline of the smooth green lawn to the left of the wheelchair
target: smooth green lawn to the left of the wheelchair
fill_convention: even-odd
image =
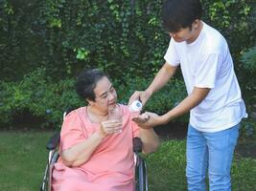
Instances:
[[[0,190],[39,190],[49,132],[0,132]]]

